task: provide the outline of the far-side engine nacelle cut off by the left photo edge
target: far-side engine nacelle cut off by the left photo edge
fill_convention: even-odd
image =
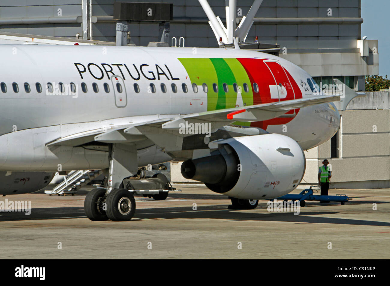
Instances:
[[[0,172],[0,195],[25,194],[46,187],[54,173],[47,172]]]

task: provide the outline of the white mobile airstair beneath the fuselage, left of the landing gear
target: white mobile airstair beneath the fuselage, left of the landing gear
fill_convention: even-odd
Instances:
[[[46,190],[45,194],[51,195],[66,195],[77,193],[77,190],[85,186],[94,178],[102,174],[102,170],[76,170],[71,171],[68,175],[64,175],[64,181],[58,184],[52,190]]]

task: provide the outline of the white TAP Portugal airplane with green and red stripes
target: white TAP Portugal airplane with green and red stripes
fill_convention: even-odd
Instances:
[[[58,170],[105,169],[106,188],[85,198],[91,220],[130,220],[136,206],[124,178],[169,161],[254,208],[293,191],[303,150],[340,126],[340,94],[322,93],[283,58],[237,45],[4,44],[0,54],[0,194],[37,191]]]

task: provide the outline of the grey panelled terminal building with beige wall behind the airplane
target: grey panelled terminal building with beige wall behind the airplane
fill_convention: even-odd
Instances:
[[[221,44],[197,0],[120,2],[172,3],[169,39],[165,41],[168,46]],[[208,2],[225,23],[225,1]],[[115,45],[114,3],[115,0],[3,0],[0,43]],[[254,0],[237,1],[237,19],[245,16],[253,4]],[[246,42],[270,44],[280,57],[306,70],[318,84],[339,79],[356,91],[364,91],[365,76],[379,74],[379,51],[378,40],[363,39],[363,20],[360,0],[263,0]],[[129,21],[129,44],[147,46],[160,42],[165,23]],[[323,145],[305,151],[307,168],[302,183],[315,184],[318,167],[327,158],[333,172],[331,188],[389,188],[389,92],[367,93],[367,97],[354,99],[347,111],[340,113],[339,132]],[[179,174],[179,166],[180,163],[171,164],[173,182],[186,181]]]

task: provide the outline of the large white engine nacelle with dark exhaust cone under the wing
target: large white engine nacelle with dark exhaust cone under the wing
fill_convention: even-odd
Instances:
[[[181,173],[230,197],[269,199],[293,191],[305,168],[305,154],[297,142],[262,134],[218,141],[218,150],[210,156],[184,161]]]

